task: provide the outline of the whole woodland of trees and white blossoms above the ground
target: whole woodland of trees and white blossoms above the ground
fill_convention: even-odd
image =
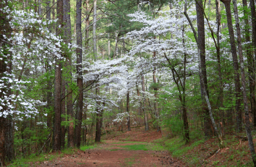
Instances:
[[[255,54],[254,0],[0,0],[0,166],[135,126],[256,166]]]

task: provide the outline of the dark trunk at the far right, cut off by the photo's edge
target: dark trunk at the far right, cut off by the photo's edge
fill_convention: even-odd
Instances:
[[[243,0],[243,5],[246,5],[244,7],[247,8],[247,4],[246,4],[245,0]],[[255,12],[254,0],[250,0],[250,6],[251,6],[251,17],[252,17],[252,42],[253,42],[254,54],[256,56],[256,12]],[[246,17],[248,17],[247,11],[246,11],[246,14],[244,14],[244,15]],[[246,21],[246,19],[245,19],[245,21]],[[246,24],[246,25],[249,25],[249,24]],[[247,36],[249,36],[249,41],[250,41],[249,33],[248,33]],[[247,39],[246,39],[246,41],[247,41]],[[252,115],[253,115],[253,126],[256,127],[256,102],[255,102],[255,93],[254,93],[254,90],[255,90],[255,75],[254,75],[254,70],[253,70],[255,65],[254,65],[253,57],[251,59],[248,59],[248,61],[250,61],[250,63],[249,63],[250,67],[248,68],[248,70],[249,70],[249,81],[250,81],[250,94],[251,94],[251,105],[252,105]],[[251,81],[250,79],[251,80],[253,79],[253,81]]]

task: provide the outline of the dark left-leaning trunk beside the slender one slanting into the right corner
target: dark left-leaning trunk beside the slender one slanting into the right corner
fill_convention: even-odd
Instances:
[[[230,45],[231,45],[231,53],[233,59],[233,66],[235,71],[235,94],[236,94],[236,129],[237,132],[242,131],[242,112],[241,112],[241,89],[240,89],[240,79],[239,79],[239,67],[238,67],[238,60],[237,60],[237,52],[236,52],[236,45],[235,45],[235,36],[234,30],[232,26],[232,15],[230,9],[230,2],[231,0],[221,0],[226,7],[227,13],[227,20],[228,20],[228,31],[230,37]]]

